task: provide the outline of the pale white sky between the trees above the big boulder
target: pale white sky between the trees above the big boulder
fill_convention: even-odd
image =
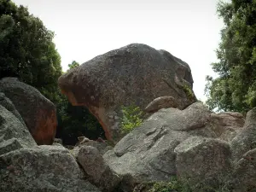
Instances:
[[[55,32],[63,71],[127,44],[166,49],[187,62],[202,101],[210,63],[217,61],[222,20],[218,0],[14,0]]]

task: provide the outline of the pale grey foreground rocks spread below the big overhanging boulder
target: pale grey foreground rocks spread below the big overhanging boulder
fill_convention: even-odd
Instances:
[[[162,108],[112,150],[100,138],[80,137],[69,151],[57,140],[37,146],[15,106],[0,93],[0,191],[130,192],[137,184],[169,181],[173,175],[191,184],[227,182],[230,191],[253,191],[255,114],[253,108],[244,122],[240,113],[211,113],[201,102],[183,110]]]

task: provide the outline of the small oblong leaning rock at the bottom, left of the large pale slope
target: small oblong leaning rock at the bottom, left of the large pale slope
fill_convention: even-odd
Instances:
[[[79,148],[78,160],[90,181],[102,191],[113,191],[118,185],[119,176],[109,168],[98,149],[91,146]]]

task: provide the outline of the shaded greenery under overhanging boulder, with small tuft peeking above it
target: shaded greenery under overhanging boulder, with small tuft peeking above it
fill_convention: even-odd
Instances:
[[[79,67],[79,63],[73,61],[68,65],[69,70]],[[58,103],[58,130],[56,137],[61,137],[64,144],[74,145],[78,142],[78,137],[85,136],[96,140],[98,137],[105,139],[105,132],[87,108],[82,106],[72,106],[65,96],[62,96]]]

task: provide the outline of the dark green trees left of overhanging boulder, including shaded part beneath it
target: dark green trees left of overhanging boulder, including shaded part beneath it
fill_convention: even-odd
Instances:
[[[104,137],[102,126],[89,110],[73,107],[61,95],[57,81],[62,74],[61,56],[53,43],[54,32],[42,20],[9,0],[0,0],[0,79],[17,77],[55,103],[58,127],[56,137],[74,144],[77,137]],[[69,67],[78,67],[73,61]]]

